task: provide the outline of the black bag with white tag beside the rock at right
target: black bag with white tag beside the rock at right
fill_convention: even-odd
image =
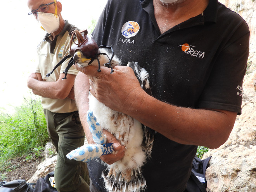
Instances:
[[[207,182],[205,178],[205,171],[211,156],[202,160],[194,157],[192,162],[192,171],[189,181],[187,182],[187,192],[206,192]]]

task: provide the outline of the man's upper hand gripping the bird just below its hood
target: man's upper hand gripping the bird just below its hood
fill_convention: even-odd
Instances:
[[[140,101],[147,94],[140,87],[131,67],[114,66],[112,74],[107,67],[100,67],[100,73],[96,66],[75,67],[90,79],[92,95],[113,110],[127,114],[130,108],[140,106]]]

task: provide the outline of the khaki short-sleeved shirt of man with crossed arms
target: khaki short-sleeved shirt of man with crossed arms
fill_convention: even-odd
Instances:
[[[67,21],[65,23],[62,32],[55,37],[52,41],[52,35],[47,34],[42,40],[40,45],[38,45],[38,66],[36,67],[36,73],[42,75],[43,81],[57,81],[60,77],[60,73],[63,73],[70,59],[67,59],[62,63],[55,71],[46,77],[46,74],[51,72],[52,69],[67,55],[69,55],[69,42],[70,34],[74,31],[73,25],[69,24]],[[78,74],[78,71],[72,66],[68,74]],[[65,81],[65,80],[63,80]],[[74,100],[71,99],[50,99],[47,97],[42,97],[42,106],[44,109],[48,109],[51,112],[66,113],[77,111],[77,107]]]

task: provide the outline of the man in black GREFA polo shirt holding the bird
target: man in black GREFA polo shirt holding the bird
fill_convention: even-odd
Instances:
[[[164,2],[163,2],[164,1]],[[80,117],[88,88],[100,102],[157,131],[152,158],[142,167],[147,192],[183,192],[197,145],[216,149],[241,113],[242,81],[249,54],[249,29],[217,0],[109,0],[93,31],[98,45],[111,46],[126,65],[138,62],[150,75],[147,95],[129,67],[78,68],[75,81]],[[90,77],[90,84],[88,77]],[[86,119],[81,118],[90,141]],[[108,139],[113,139],[107,135]],[[101,157],[114,163],[124,149]],[[105,166],[88,163],[90,190],[104,189]]]

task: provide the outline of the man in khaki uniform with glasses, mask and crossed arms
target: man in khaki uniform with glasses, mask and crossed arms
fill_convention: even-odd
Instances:
[[[56,0],[28,0],[28,7],[31,10],[28,15],[34,15],[47,32],[38,45],[38,65],[35,73],[28,77],[28,88],[42,96],[47,130],[58,152],[55,186],[59,192],[88,192],[90,180],[86,164],[66,157],[71,150],[81,147],[85,140],[73,93],[78,71],[71,67],[67,79],[62,80],[68,59],[50,77],[46,77],[69,54],[71,32],[78,28],[62,18],[62,5]]]

